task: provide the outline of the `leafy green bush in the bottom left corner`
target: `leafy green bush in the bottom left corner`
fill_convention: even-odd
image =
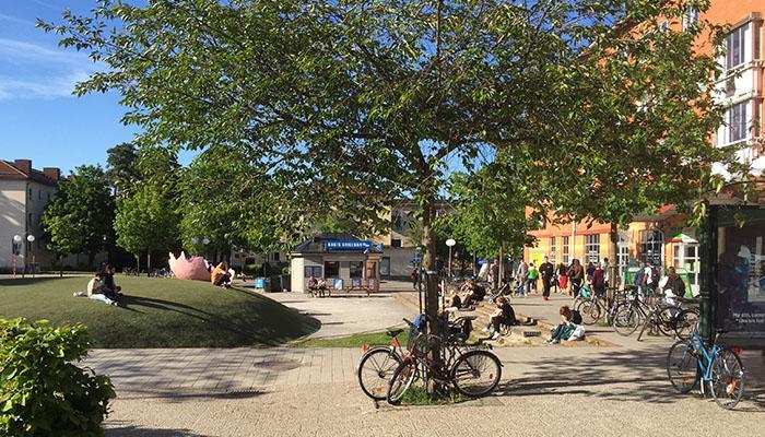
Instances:
[[[74,365],[91,345],[85,327],[46,324],[0,319],[0,436],[103,436],[115,391]]]

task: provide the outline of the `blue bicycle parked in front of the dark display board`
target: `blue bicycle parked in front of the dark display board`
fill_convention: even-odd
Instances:
[[[718,331],[718,336],[720,332]],[[696,331],[672,345],[667,355],[667,375],[680,393],[687,393],[702,380],[718,405],[733,409],[744,393],[744,367],[735,351],[717,344],[704,346]]]

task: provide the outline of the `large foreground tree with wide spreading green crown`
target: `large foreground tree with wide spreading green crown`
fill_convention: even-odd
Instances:
[[[565,192],[573,214],[598,186],[704,180],[720,155],[703,141],[719,118],[702,86],[711,59],[692,50],[701,31],[625,32],[685,3],[101,0],[92,16],[42,25],[108,66],[76,92],[118,90],[138,142],[226,144],[267,168],[282,226],[333,208],[375,231],[391,199],[415,199],[433,269],[435,201],[455,156],[473,170],[482,151],[501,151],[539,190],[534,206]],[[635,158],[650,172],[634,174]]]

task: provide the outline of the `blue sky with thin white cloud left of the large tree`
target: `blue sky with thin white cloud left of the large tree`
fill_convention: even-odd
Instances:
[[[76,81],[97,70],[87,56],[58,47],[36,19],[85,13],[93,0],[0,0],[0,158],[30,158],[35,168],[106,163],[106,150],[130,141],[136,127],[116,93],[71,95]],[[189,156],[181,156],[188,163]]]

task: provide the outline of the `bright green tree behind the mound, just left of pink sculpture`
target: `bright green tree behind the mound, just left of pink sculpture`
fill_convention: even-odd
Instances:
[[[146,252],[151,271],[153,250],[169,250],[179,238],[176,186],[179,165],[174,153],[163,147],[144,146],[138,151],[140,179],[131,184],[130,193],[117,201],[114,229],[117,245],[136,257]]]

